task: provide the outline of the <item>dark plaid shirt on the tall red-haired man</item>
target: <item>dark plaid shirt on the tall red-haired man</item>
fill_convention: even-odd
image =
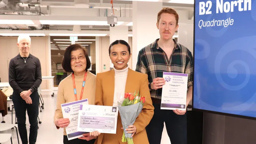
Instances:
[[[194,60],[192,53],[183,45],[176,42],[170,60],[166,53],[158,46],[157,39],[139,51],[136,71],[148,74],[149,88],[153,79],[163,77],[163,72],[188,74],[187,87],[193,85]],[[161,99],[162,88],[150,91],[151,97]]]

